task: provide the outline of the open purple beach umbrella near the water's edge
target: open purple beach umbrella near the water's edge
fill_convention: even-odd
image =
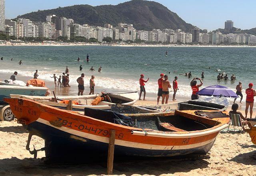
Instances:
[[[198,95],[203,96],[224,96],[224,97],[231,97],[231,98],[238,98],[237,94],[231,90],[230,88],[227,88],[225,86],[220,85],[214,85],[214,86],[208,86],[200,91],[197,92]]]

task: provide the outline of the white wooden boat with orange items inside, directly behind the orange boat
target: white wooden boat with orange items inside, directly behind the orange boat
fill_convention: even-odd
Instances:
[[[56,108],[66,109],[67,104],[63,103],[63,100],[72,100],[77,102],[73,104],[72,110],[84,111],[84,108],[96,108],[96,109],[108,109],[110,110],[110,105],[114,104],[124,104],[132,105],[134,104],[139,96],[138,92],[122,92],[122,93],[106,93],[109,99],[99,102],[97,105],[92,105],[91,103],[97,96],[102,96],[102,94],[94,95],[83,95],[83,96],[57,96],[56,100],[54,96],[40,97],[40,96],[23,96],[23,95],[11,95],[12,98],[28,98],[42,104],[47,104]]]

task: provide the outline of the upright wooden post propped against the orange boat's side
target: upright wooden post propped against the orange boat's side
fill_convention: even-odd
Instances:
[[[108,166],[107,174],[113,173],[113,161],[114,161],[114,148],[115,148],[115,136],[116,130],[110,130],[109,142],[108,142]]]

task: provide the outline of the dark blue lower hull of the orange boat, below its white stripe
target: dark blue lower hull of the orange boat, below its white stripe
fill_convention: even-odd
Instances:
[[[25,128],[45,139],[46,158],[49,160],[67,160],[70,162],[72,160],[84,160],[90,155],[105,156],[108,153],[107,143],[82,138],[40,122],[32,122]],[[214,141],[204,146],[183,150],[149,150],[115,145],[115,156],[167,157],[206,154],[212,148]]]

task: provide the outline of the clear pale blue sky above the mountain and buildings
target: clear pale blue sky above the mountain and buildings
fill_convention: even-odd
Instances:
[[[46,10],[75,4],[92,6],[116,5],[127,0],[6,0],[6,18],[15,18],[37,10]],[[154,0],[175,12],[187,23],[201,29],[224,28],[226,20],[232,20],[234,27],[250,29],[256,27],[256,0]],[[136,28],[136,26],[135,26]]]

